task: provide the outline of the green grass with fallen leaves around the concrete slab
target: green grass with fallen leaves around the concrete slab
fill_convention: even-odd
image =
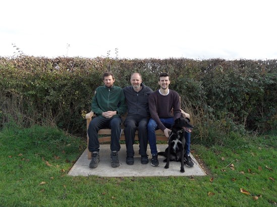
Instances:
[[[232,136],[229,145],[192,145],[208,176],[71,177],[67,173],[85,149],[85,139],[54,128],[5,128],[0,132],[0,205],[276,205],[276,136]]]

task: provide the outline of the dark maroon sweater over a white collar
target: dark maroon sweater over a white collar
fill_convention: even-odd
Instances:
[[[158,128],[164,131],[166,127],[159,120],[160,118],[171,118],[174,120],[181,117],[180,96],[174,91],[170,90],[168,95],[161,95],[158,90],[149,95],[149,110],[151,118],[157,123]],[[171,112],[173,108],[173,114]]]

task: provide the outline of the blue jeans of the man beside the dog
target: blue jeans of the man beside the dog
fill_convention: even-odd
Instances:
[[[160,121],[168,129],[171,129],[171,127],[174,125],[174,119],[173,118],[160,119]],[[155,154],[158,153],[157,144],[156,144],[155,130],[158,130],[158,125],[151,118],[148,122],[148,125],[147,125],[147,133],[148,133],[149,146],[150,146],[150,150],[151,150],[152,155],[155,155]],[[190,154],[190,133],[185,132],[184,137],[185,137],[185,140],[186,140],[185,154]]]

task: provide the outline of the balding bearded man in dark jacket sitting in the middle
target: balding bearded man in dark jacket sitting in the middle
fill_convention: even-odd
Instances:
[[[150,118],[148,97],[153,90],[142,83],[140,73],[133,73],[131,75],[130,82],[131,86],[123,88],[127,102],[127,118],[124,122],[124,134],[127,150],[126,163],[128,165],[134,164],[135,152],[133,145],[135,142],[135,132],[138,130],[141,163],[147,164],[147,123]]]

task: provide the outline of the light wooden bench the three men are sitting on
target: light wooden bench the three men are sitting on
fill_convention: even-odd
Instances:
[[[181,113],[183,114],[184,117],[186,118],[190,118],[190,115],[185,113],[182,109],[181,109]],[[88,126],[89,123],[91,121],[91,119],[93,119],[94,113],[91,111],[90,113],[86,114],[86,120],[87,120],[87,130],[88,130]],[[125,114],[122,117],[122,121],[124,122],[126,119],[127,114]],[[121,133],[121,137],[120,140],[125,140],[125,135],[124,135],[124,125],[122,124],[122,133]],[[98,137],[99,143],[103,143],[103,142],[109,142],[110,141],[110,135],[111,135],[111,130],[110,129],[101,129],[98,131],[98,135],[103,135],[101,137]],[[168,141],[168,138],[165,137],[163,131],[161,130],[156,130],[155,131],[156,134],[156,140],[157,141]],[[88,145],[88,135],[87,135],[87,145]],[[138,131],[136,131],[135,133],[135,140],[138,140]],[[91,152],[88,151],[88,159],[91,159]]]

